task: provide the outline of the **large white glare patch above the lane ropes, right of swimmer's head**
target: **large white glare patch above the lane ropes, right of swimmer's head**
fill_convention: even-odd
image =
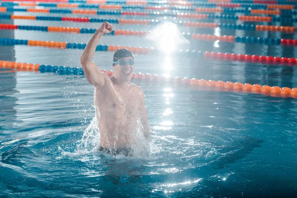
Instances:
[[[179,31],[177,25],[168,21],[157,25],[145,38],[153,42],[158,42],[159,49],[165,53],[176,50],[177,44],[189,43]]]

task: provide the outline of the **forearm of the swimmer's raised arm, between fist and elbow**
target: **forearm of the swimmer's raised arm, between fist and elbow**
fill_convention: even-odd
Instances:
[[[93,35],[92,39],[89,41],[88,45],[86,46],[81,56],[81,63],[83,67],[86,65],[91,65],[90,63],[92,62],[96,48],[102,35],[103,33],[98,29]]]

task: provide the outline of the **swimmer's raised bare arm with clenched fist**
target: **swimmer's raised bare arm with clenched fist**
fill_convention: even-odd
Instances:
[[[100,71],[99,67],[94,62],[92,62],[92,59],[102,35],[108,34],[111,31],[112,25],[105,21],[95,32],[80,58],[88,82],[96,87],[104,86],[106,75]]]

